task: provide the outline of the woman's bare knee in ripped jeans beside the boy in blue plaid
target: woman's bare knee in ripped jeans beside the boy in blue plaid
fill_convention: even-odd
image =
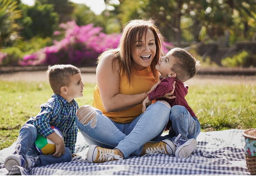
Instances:
[[[91,126],[94,128],[97,123],[97,116],[96,112],[92,109],[89,105],[84,105],[79,107],[79,109],[76,111],[76,116],[83,125],[86,125],[92,120]]]

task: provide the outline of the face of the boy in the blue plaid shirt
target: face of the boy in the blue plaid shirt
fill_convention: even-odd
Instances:
[[[85,86],[81,79],[81,73],[74,74],[70,77],[70,85],[66,87],[67,101],[72,101],[74,98],[83,97],[83,87]]]

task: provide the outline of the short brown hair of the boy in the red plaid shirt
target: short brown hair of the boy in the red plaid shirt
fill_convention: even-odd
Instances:
[[[201,65],[200,61],[182,48],[173,48],[171,51],[171,55],[175,57],[171,70],[176,73],[176,78],[185,82],[195,76]]]

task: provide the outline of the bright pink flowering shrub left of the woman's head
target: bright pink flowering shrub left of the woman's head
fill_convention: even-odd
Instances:
[[[53,46],[40,49],[31,55],[25,55],[22,66],[74,64],[76,66],[96,66],[98,56],[107,48],[116,48],[120,35],[107,35],[100,27],[93,24],[78,26],[70,21],[61,24],[65,30],[65,38],[60,42],[54,41]],[[56,31],[54,35],[60,34]]]

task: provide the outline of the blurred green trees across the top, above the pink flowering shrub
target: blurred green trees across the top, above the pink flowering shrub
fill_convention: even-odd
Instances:
[[[70,0],[35,0],[35,4],[30,7],[20,0],[0,0],[0,49],[15,47],[24,55],[37,52],[53,45],[54,40],[64,39],[64,35],[54,33],[61,31],[61,23],[72,20],[78,26],[93,24],[101,27],[103,33],[110,35],[120,34],[122,26],[130,20],[152,18],[166,42],[177,47],[187,47],[198,42],[215,42],[228,47],[237,41],[256,39],[255,0],[104,2],[106,9],[96,15],[85,4],[75,4]],[[5,54],[3,50],[0,52],[0,60],[3,61]]]

